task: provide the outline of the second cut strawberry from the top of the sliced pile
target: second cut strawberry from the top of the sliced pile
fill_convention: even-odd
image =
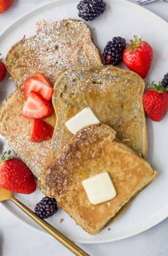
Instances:
[[[41,82],[37,78],[28,78],[24,82],[25,99],[28,98],[31,91],[39,93],[46,100],[50,100],[54,92],[51,86]]]

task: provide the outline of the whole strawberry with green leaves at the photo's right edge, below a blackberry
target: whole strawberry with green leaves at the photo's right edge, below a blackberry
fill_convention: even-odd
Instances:
[[[168,88],[151,83],[149,90],[143,95],[145,112],[153,121],[161,121],[168,111]]]

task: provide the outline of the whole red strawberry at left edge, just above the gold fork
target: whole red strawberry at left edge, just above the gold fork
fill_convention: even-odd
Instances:
[[[18,158],[5,152],[0,160],[0,187],[16,193],[30,194],[36,190],[36,182],[29,168]]]

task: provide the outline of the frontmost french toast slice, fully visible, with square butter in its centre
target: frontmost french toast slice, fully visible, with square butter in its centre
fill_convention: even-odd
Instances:
[[[48,197],[55,197],[58,206],[91,235],[97,234],[157,175],[147,161],[115,136],[115,131],[106,124],[80,130],[38,180],[41,191]],[[102,172],[109,173],[117,195],[93,205],[82,181]]]

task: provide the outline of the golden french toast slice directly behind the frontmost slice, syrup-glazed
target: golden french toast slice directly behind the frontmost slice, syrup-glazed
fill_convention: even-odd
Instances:
[[[144,80],[130,70],[113,66],[79,68],[64,72],[55,84],[53,105],[56,127],[52,139],[55,158],[73,134],[65,123],[90,107],[101,123],[110,125],[117,138],[138,154],[147,155],[147,128],[142,103]]]

